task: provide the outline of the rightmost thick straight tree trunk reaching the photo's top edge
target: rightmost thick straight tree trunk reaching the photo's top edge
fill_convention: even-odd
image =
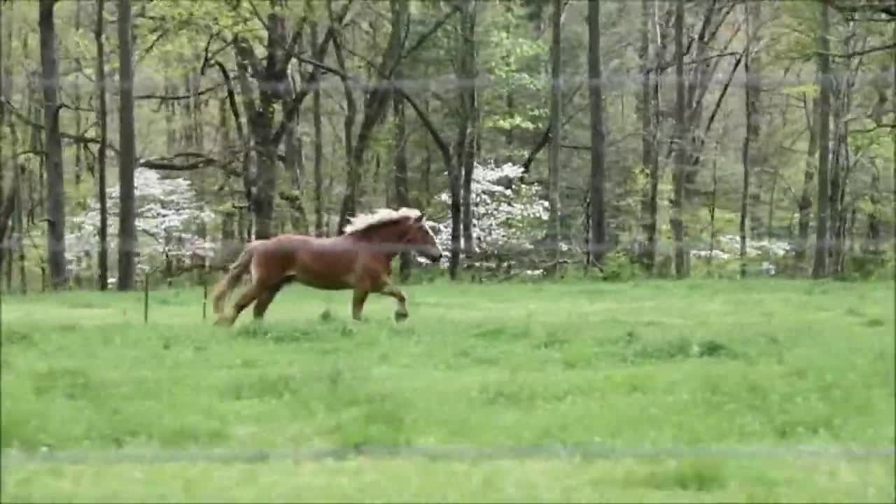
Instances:
[[[828,165],[831,160],[831,28],[828,19],[828,0],[821,3],[821,33],[818,37],[818,72],[821,74],[822,86],[818,96],[820,117],[818,124],[818,211],[815,222],[815,259],[812,267],[813,278],[827,275],[828,251],[828,218],[830,198],[828,196]]]

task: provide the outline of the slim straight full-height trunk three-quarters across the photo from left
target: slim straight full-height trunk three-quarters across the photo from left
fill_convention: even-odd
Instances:
[[[676,0],[675,9],[675,74],[676,74],[676,150],[675,171],[672,173],[672,208],[669,215],[669,225],[672,228],[675,239],[675,272],[676,277],[685,278],[688,275],[688,254],[685,244],[685,221],[683,204],[685,198],[685,135],[687,135],[687,123],[685,123],[685,0]]]

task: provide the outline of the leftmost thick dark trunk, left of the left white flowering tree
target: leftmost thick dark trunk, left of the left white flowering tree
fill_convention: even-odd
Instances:
[[[65,265],[65,172],[59,133],[59,69],[56,62],[55,0],[40,1],[40,65],[47,141],[47,263],[54,290],[68,282]]]

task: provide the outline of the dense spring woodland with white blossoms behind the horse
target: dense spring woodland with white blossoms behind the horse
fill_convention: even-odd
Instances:
[[[0,285],[426,212],[451,279],[892,276],[896,2],[0,0]]]

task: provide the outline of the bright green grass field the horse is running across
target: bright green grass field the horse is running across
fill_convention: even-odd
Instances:
[[[142,293],[4,297],[3,500],[896,498],[892,282],[406,291],[401,325],[388,298],[355,323],[349,292],[291,286],[230,329],[199,290],[151,292],[147,326]],[[558,445],[614,451],[210,456]]]

